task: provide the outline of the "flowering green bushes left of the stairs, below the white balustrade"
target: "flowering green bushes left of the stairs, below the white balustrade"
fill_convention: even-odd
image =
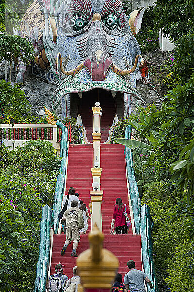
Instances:
[[[44,140],[0,147],[1,292],[33,292],[41,209],[53,204],[60,160]]]

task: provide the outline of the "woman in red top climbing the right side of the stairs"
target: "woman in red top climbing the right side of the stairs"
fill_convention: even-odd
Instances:
[[[110,227],[111,234],[114,234],[114,229],[116,234],[127,234],[128,227],[126,225],[126,217],[124,215],[125,208],[126,213],[130,214],[127,205],[122,204],[121,198],[117,198],[113,209],[113,216]]]

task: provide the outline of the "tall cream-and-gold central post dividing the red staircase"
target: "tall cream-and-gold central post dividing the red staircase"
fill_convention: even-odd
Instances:
[[[100,177],[102,169],[100,168],[100,115],[101,107],[100,103],[96,103],[96,106],[92,108],[93,111],[93,168],[91,168],[93,183],[93,190],[90,191],[91,203],[92,203],[92,217],[91,228],[96,223],[99,230],[102,231],[102,213],[101,204],[103,191],[100,190]]]

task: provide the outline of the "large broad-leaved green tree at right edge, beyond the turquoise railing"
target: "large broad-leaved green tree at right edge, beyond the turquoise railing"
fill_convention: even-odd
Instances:
[[[168,92],[161,110],[150,116],[141,112],[140,118],[139,123],[133,120],[130,123],[152,145],[155,178],[165,182],[166,192],[174,203],[187,198],[187,207],[182,203],[172,212],[176,220],[184,215],[191,240],[194,238],[194,76]],[[144,149],[140,141],[134,143]]]

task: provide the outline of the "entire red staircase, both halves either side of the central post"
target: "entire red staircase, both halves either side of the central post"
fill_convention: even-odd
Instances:
[[[75,187],[75,191],[79,193],[79,198],[86,203],[88,209],[90,203],[89,191],[92,189],[92,166],[92,145],[70,145],[66,194],[69,187]],[[122,198],[123,203],[128,205],[124,146],[101,144],[101,167],[101,189],[104,192],[102,202],[104,247],[118,257],[120,265],[118,272],[124,277],[124,274],[128,272],[127,261],[129,259],[133,259],[136,262],[137,269],[142,269],[140,236],[133,235],[131,227],[128,235],[110,234],[110,224],[116,198]],[[88,219],[88,230],[86,235],[81,235],[77,249],[78,254],[89,247],[88,232],[90,229],[91,221]],[[54,266],[61,262],[65,265],[64,274],[70,278],[72,276],[72,267],[76,265],[76,258],[71,257],[72,244],[68,246],[65,256],[60,255],[64,241],[65,235],[54,235],[51,274],[54,273]]]

